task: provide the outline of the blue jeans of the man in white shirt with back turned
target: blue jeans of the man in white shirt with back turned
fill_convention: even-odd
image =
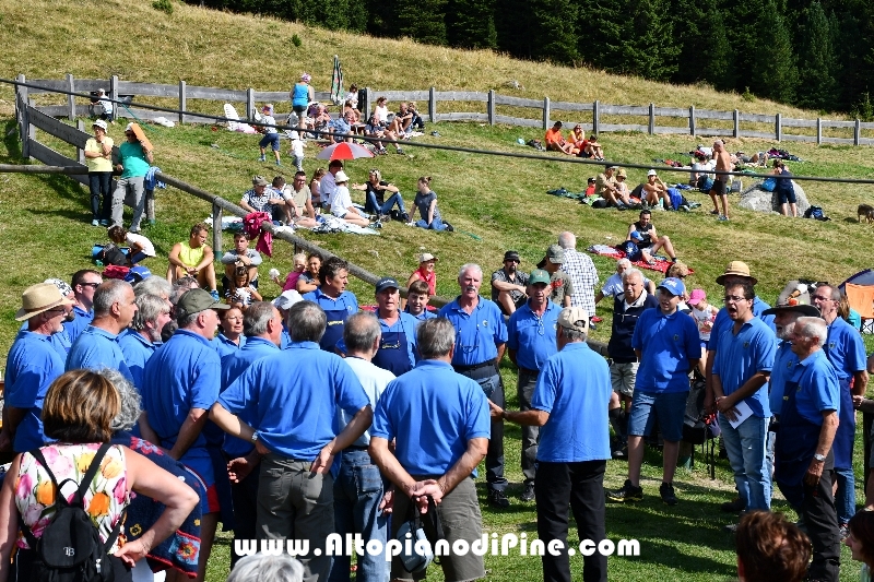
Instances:
[[[346,449],[335,462],[340,474],[334,482],[334,527],[345,542],[346,534],[359,533],[365,545],[378,539],[383,546],[388,536],[388,515],[379,511],[382,501],[382,475],[365,450]],[[334,556],[329,582],[347,582],[349,556]],[[387,582],[391,562],[385,555],[365,551],[357,557],[357,582]]]

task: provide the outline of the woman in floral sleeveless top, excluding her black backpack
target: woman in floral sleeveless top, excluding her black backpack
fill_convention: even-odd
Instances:
[[[57,442],[40,449],[59,484],[79,483],[94,455],[111,437],[110,423],[118,413],[120,399],[115,387],[90,370],[71,370],[60,376],[48,390],[43,407],[44,431]],[[67,490],[70,488],[70,490]],[[75,486],[64,484],[61,495],[71,496]],[[130,567],[152,546],[174,533],[198,503],[197,494],[166,471],[127,447],[113,446],[84,496],[85,511],[106,542],[111,535],[130,491],[140,491],[166,506],[155,525],[139,539],[125,543],[119,537],[110,554],[116,581],[130,580]],[[0,489],[0,582],[29,580],[33,548],[19,532],[19,516],[39,538],[55,515],[58,491],[45,467],[33,455],[15,458]],[[13,545],[17,544],[15,565],[10,565]]]

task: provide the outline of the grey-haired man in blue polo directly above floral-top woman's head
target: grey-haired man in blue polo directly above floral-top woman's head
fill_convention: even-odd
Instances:
[[[94,293],[94,320],[73,343],[67,355],[66,370],[79,368],[114,368],[125,378],[133,376],[118,345],[118,334],[125,331],[137,313],[137,297],[130,283],[110,278]]]

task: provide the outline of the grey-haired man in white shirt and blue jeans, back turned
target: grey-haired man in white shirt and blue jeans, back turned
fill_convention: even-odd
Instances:
[[[377,285],[377,289],[379,287]],[[393,293],[398,293],[397,287]],[[371,313],[362,312],[351,316],[343,329],[343,342],[346,346],[346,358],[343,361],[355,372],[374,409],[386,387],[394,380],[391,371],[371,361],[382,344],[381,328],[382,323]],[[338,426],[346,426],[350,416],[343,411],[338,412]],[[388,514],[380,510],[383,479],[367,452],[369,444],[370,435],[365,431],[340,453],[340,475],[334,482],[334,527],[344,538],[346,535],[361,534],[365,545],[376,539],[385,546],[388,539]],[[334,556],[331,566],[332,581],[350,579],[350,561],[349,556]],[[364,556],[358,556],[357,561],[356,575],[359,580],[388,580],[389,562],[383,556],[365,553]]]

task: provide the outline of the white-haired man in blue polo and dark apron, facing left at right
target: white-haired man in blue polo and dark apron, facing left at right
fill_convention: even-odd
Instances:
[[[817,289],[816,295],[822,293]],[[838,513],[831,497],[840,401],[838,375],[822,344],[828,332],[819,318],[800,318],[790,335],[799,363],[786,381],[777,439],[775,479],[804,519],[813,545],[808,580],[837,582],[840,566]]]

